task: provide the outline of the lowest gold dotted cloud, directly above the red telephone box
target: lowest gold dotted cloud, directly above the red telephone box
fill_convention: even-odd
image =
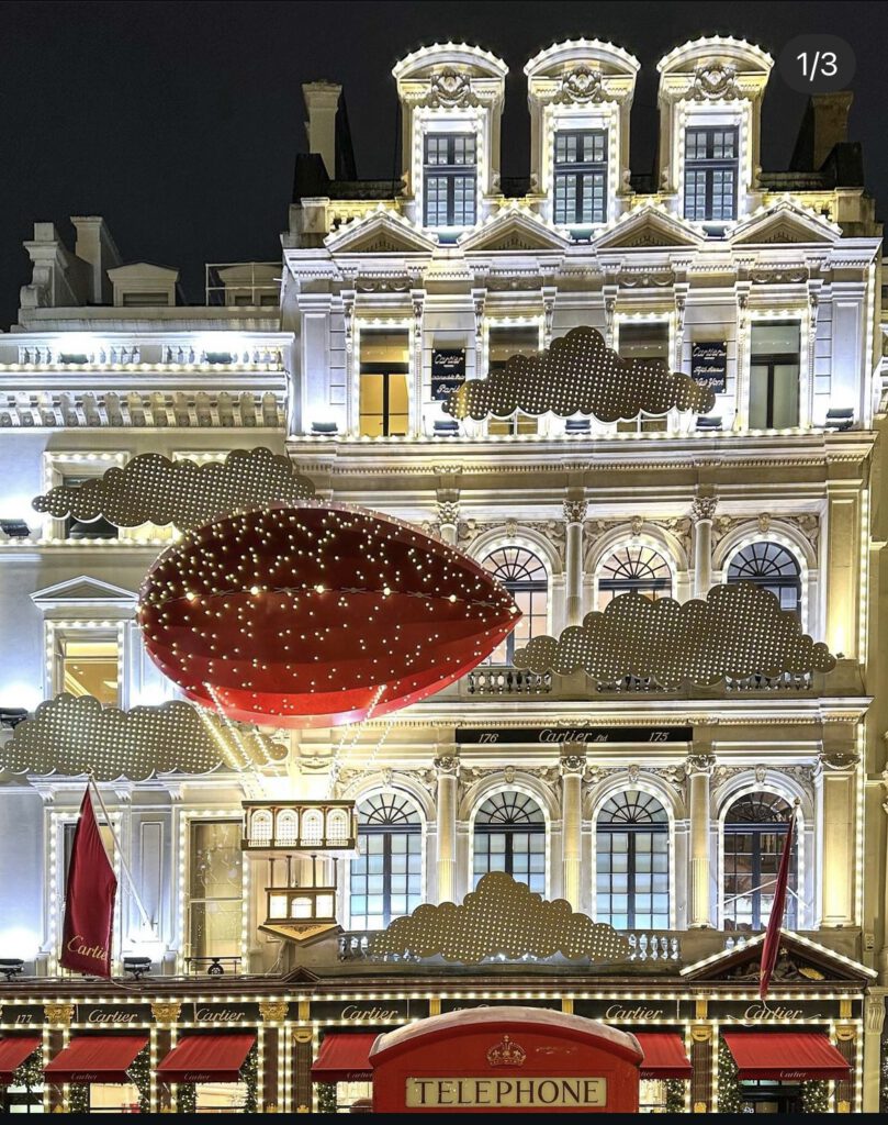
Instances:
[[[628,944],[615,929],[574,914],[564,899],[547,901],[511,875],[484,875],[461,906],[425,903],[406,918],[396,918],[370,944],[372,956],[410,954],[474,964],[504,954],[573,961],[622,961]]]

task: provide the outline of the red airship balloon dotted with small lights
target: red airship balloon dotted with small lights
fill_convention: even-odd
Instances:
[[[232,719],[334,726],[425,699],[515,628],[471,559],[338,504],[217,520],[169,548],[141,591],[152,659]]]

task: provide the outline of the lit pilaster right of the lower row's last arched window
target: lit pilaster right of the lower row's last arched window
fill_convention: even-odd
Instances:
[[[852,728],[853,729],[853,728]],[[823,824],[821,926],[854,926],[857,781],[860,758],[845,740],[821,752],[815,775]]]

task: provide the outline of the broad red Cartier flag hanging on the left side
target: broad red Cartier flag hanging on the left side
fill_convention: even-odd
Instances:
[[[108,861],[87,786],[67,868],[60,965],[93,976],[111,975],[116,896],[117,878]]]

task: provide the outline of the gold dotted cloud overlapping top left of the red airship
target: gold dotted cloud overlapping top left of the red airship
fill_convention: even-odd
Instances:
[[[224,461],[197,465],[142,453],[120,469],[115,466],[82,485],[58,485],[34,500],[37,512],[57,520],[73,515],[89,522],[100,516],[118,528],[172,523],[188,531],[218,515],[281,502],[297,505],[315,494],[287,457],[270,449],[235,449]]]

